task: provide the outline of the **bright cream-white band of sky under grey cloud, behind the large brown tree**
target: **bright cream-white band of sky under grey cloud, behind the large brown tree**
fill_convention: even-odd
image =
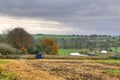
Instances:
[[[31,34],[64,34],[71,31],[71,28],[64,27],[62,23],[35,18],[15,18],[0,16],[0,30],[12,30],[16,27],[22,27]]]

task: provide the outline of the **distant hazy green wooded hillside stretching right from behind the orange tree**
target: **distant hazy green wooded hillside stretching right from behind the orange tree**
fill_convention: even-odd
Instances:
[[[46,35],[37,35],[42,36],[37,40],[42,40]],[[118,48],[120,46],[120,36],[110,36],[110,35],[47,35],[47,37],[53,38],[58,44],[59,48],[62,49],[106,49],[110,47]],[[67,38],[66,38],[67,37]]]

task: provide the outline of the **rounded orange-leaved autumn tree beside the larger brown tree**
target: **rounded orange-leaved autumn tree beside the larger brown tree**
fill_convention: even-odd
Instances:
[[[45,54],[58,54],[58,45],[53,39],[45,38],[40,42],[40,45]]]

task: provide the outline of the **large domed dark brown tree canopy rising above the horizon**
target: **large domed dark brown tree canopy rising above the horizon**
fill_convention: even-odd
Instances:
[[[33,46],[32,36],[23,28],[15,28],[8,32],[8,41],[16,48],[29,48]]]

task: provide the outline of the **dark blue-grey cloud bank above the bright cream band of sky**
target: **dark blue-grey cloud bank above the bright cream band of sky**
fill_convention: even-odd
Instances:
[[[88,34],[120,30],[119,0],[0,0],[0,13],[59,21]]]

